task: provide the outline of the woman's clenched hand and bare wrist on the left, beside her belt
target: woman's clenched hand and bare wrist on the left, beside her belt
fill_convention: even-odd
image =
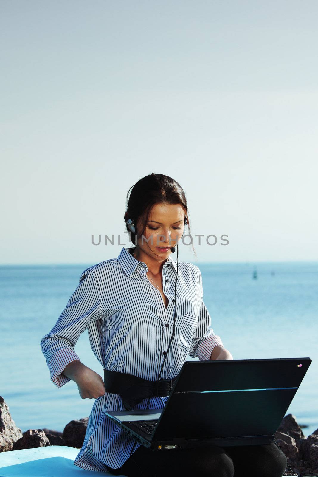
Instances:
[[[105,394],[102,376],[80,361],[72,361],[63,371],[67,377],[77,384],[82,399],[97,399]]]

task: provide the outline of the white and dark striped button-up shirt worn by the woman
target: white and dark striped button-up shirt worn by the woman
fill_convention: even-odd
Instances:
[[[41,350],[58,388],[70,378],[62,372],[68,363],[80,360],[74,346],[88,330],[92,351],[99,363],[111,371],[129,373],[156,381],[165,350],[173,332],[174,283],[176,263],[169,256],[164,262],[163,291],[147,278],[148,268],[124,248],[118,258],[104,260],[82,272],[80,282],[51,332],[41,339]],[[210,327],[211,318],[203,302],[200,269],[178,262],[177,311],[174,339],[164,362],[161,377],[173,379],[187,355],[209,360],[216,345],[223,346]],[[168,396],[154,396],[149,409],[163,408]],[[134,409],[146,409],[148,398]],[[89,416],[83,446],[74,460],[77,467],[107,471],[121,467],[141,446],[105,416],[106,410],[122,410],[119,394],[106,392],[95,399]]]

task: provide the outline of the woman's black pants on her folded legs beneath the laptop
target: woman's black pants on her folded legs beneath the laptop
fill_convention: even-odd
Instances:
[[[113,475],[128,477],[282,477],[287,467],[285,454],[272,442],[260,446],[202,446],[193,449],[135,450]]]

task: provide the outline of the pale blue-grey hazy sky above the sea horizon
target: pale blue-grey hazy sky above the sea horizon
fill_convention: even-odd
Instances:
[[[306,0],[2,0],[0,264],[117,257],[152,172],[185,190],[180,261],[317,261],[317,18]]]

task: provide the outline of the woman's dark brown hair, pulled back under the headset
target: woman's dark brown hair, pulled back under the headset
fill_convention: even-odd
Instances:
[[[129,196],[130,190],[131,193]],[[139,237],[144,234],[148,218],[155,204],[180,204],[185,211],[189,234],[191,235],[185,191],[172,177],[152,172],[148,176],[139,179],[138,182],[130,187],[129,191],[126,197],[126,212],[124,214],[124,220],[126,222],[126,220],[130,218],[137,226],[137,221],[141,219],[141,230],[137,230]],[[126,228],[127,232],[130,233],[131,241],[135,245],[135,247],[128,249],[130,253],[133,253],[136,248],[136,234],[129,230],[127,224]],[[194,250],[193,244],[192,248]]]

